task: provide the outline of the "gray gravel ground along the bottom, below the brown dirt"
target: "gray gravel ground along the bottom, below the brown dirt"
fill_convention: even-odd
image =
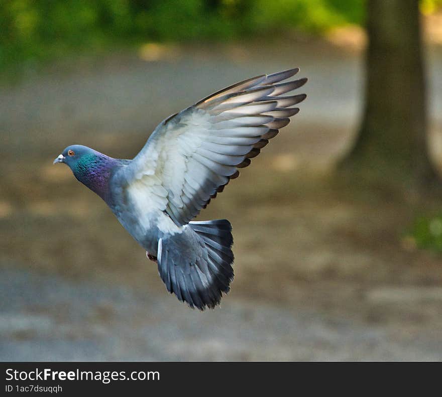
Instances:
[[[437,340],[260,302],[199,313],[173,297],[18,271],[2,271],[0,298],[8,361],[442,359]]]

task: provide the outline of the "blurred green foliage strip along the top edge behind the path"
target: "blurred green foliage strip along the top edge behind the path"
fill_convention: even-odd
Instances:
[[[2,0],[0,69],[146,41],[230,40],[362,24],[366,0]],[[433,10],[442,0],[422,0]]]

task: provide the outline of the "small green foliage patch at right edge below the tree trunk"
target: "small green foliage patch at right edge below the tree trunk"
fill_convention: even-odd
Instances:
[[[409,238],[417,248],[442,253],[442,213],[416,219]]]

